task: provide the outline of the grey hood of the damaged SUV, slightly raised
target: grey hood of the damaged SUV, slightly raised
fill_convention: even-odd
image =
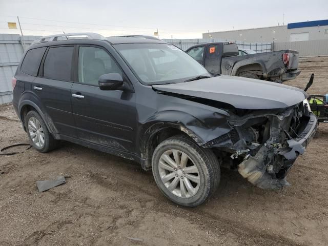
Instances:
[[[171,92],[220,101],[237,109],[279,109],[303,101],[305,91],[270,81],[220,75],[186,83],[153,85],[163,92]]]

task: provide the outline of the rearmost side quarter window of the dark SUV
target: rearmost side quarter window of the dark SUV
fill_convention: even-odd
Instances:
[[[36,76],[45,51],[46,47],[29,50],[24,57],[22,66],[20,66],[20,70],[26,74]]]

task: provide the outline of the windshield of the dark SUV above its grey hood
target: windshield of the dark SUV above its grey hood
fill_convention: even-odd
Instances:
[[[180,83],[187,79],[211,76],[190,55],[169,44],[118,44],[114,48],[145,84]]]

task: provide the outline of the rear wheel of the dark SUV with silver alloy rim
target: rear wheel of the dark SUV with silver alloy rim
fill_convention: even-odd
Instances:
[[[29,122],[32,121],[34,123],[34,127],[38,129],[38,134],[33,135],[35,133],[35,129],[33,129],[33,124]],[[25,128],[27,135],[30,139],[31,145],[34,149],[39,152],[46,153],[51,150],[54,150],[59,145],[59,140],[53,138],[52,134],[48,131],[48,128],[45,124],[43,118],[36,111],[29,111],[25,117]],[[32,139],[33,135],[33,139]],[[37,139],[37,135],[39,138]],[[44,139],[43,141],[40,139]],[[36,139],[36,140],[35,140]]]

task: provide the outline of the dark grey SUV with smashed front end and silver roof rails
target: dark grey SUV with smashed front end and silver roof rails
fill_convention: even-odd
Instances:
[[[211,76],[154,37],[76,35],[36,40],[13,78],[13,106],[35,149],[63,139],[135,160],[190,207],[218,187],[220,166],[262,189],[289,185],[317,130],[304,91]]]

